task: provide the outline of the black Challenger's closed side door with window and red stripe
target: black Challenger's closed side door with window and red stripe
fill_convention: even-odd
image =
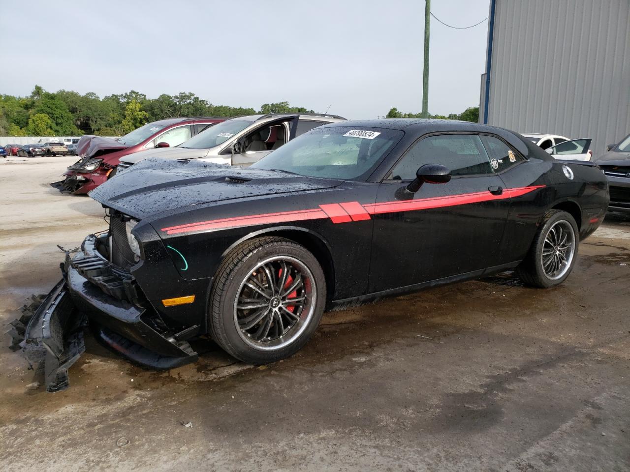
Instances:
[[[424,183],[411,194],[406,186],[425,164],[442,164],[452,177],[445,184]],[[498,166],[479,135],[433,135],[416,142],[379,186],[370,292],[503,263],[510,203]]]

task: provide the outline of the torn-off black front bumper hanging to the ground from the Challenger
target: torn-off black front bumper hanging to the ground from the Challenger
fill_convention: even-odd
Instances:
[[[66,253],[63,278],[33,315],[25,313],[11,323],[11,349],[23,349],[31,364],[33,351],[45,348],[38,361],[44,362],[47,391],[69,386],[67,370],[85,350],[88,322],[101,343],[139,366],[171,369],[197,361],[181,330],[169,329],[143,300],[133,276],[101,254],[99,240],[106,241],[106,235],[90,235],[79,252]]]

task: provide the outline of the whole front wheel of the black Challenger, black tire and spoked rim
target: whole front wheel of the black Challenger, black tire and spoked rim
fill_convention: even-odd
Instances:
[[[256,267],[275,257],[287,257],[290,260],[299,261],[300,264],[306,267],[307,270],[304,272],[307,273],[307,279],[312,281],[315,294],[314,296],[312,295],[312,285],[309,283],[311,296],[302,297],[307,301],[304,301],[303,308],[297,308],[299,313],[296,318],[298,320],[293,325],[287,325],[287,331],[283,332],[277,339],[270,340],[268,346],[253,346],[252,343],[264,344],[266,341],[264,339],[248,339],[251,336],[244,329],[241,329],[237,322],[236,302],[242,293],[241,291],[246,289],[243,284],[250,280],[250,274],[255,274],[255,270],[258,270]],[[274,263],[275,261],[270,262],[270,264]],[[289,273],[289,271],[286,272]],[[260,270],[259,274],[262,273],[263,271]],[[278,279],[280,279],[280,274],[278,274]],[[297,281],[297,277],[295,281]],[[278,280],[278,286],[283,286],[283,281]],[[282,290],[279,290],[278,293],[282,293]],[[305,289],[303,294],[306,293]],[[258,299],[258,301],[266,303],[263,298]],[[280,323],[276,322],[273,310],[277,310],[277,308],[272,308],[274,306],[272,302],[273,298],[270,300],[268,308],[270,310],[268,313],[270,314],[265,315],[263,319],[266,320],[269,317],[270,320],[273,320],[269,322],[270,325],[280,325],[282,329],[285,329],[282,320]],[[308,342],[319,325],[325,304],[326,279],[319,262],[311,252],[293,241],[279,237],[261,237],[249,240],[232,250],[217,270],[210,294],[210,335],[228,354],[243,362],[248,362],[249,364],[276,362],[295,354]],[[308,310],[306,305],[309,306]],[[262,310],[265,310],[265,308],[262,308]],[[293,310],[296,309],[293,308]],[[249,313],[253,311],[251,310]],[[249,316],[249,313],[246,316]],[[240,319],[242,322],[243,318]],[[256,330],[257,327],[262,326],[264,323],[261,320],[260,323],[253,325],[251,329]],[[277,330],[277,327],[274,329]],[[270,332],[269,328],[267,332]],[[292,332],[293,334],[290,335]],[[285,336],[287,336],[286,341],[283,340]],[[279,344],[278,346],[272,346],[272,342]]]

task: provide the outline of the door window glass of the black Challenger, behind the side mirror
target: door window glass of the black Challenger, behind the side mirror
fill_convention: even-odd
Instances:
[[[425,164],[441,164],[452,176],[492,174],[490,159],[478,135],[439,135],[424,138],[392,169],[391,179],[413,180]]]

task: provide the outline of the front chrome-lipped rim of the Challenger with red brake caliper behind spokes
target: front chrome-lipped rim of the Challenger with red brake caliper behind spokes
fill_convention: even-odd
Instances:
[[[256,349],[288,346],[306,329],[317,299],[314,277],[303,262],[274,256],[256,265],[234,300],[234,323]]]

